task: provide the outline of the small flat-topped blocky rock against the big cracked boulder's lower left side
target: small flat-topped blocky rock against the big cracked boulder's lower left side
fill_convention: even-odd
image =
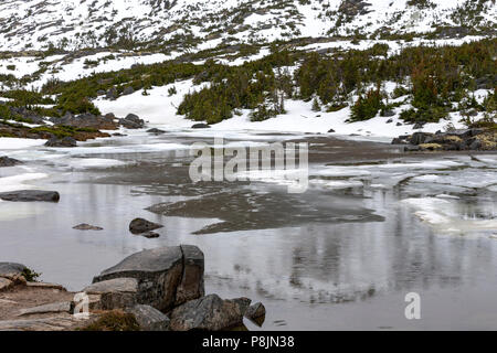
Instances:
[[[138,302],[138,280],[115,278],[93,284],[83,289],[88,296],[99,296],[102,310],[125,309]]]

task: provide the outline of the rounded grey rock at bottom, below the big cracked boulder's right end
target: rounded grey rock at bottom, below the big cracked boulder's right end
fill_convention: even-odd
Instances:
[[[241,325],[240,306],[216,295],[189,301],[171,312],[171,331],[221,331]]]

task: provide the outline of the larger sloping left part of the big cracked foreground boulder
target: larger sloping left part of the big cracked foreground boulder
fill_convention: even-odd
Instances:
[[[116,279],[138,280],[138,303],[160,311],[171,309],[183,275],[181,247],[161,247],[134,254],[93,280],[94,284]]]

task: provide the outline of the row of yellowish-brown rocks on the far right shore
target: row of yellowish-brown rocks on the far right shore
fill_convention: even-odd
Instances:
[[[414,132],[393,139],[392,145],[403,145],[405,151],[496,150],[497,133],[489,129]]]

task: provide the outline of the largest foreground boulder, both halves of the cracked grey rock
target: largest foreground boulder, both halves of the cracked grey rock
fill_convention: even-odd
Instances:
[[[93,282],[136,278],[137,302],[167,312],[177,302],[197,299],[203,295],[203,254],[195,247],[161,247],[125,258],[96,276]]]

